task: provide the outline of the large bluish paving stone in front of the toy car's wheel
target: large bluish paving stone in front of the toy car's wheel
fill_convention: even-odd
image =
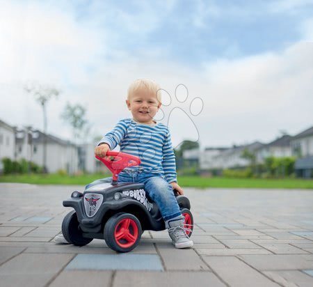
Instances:
[[[157,270],[163,266],[155,254],[78,254],[66,270]]]

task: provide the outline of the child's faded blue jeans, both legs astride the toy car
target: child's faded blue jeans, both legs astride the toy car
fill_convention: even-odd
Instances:
[[[86,185],[86,188],[99,183],[111,183],[111,180],[112,178],[95,180]],[[121,172],[118,175],[118,183],[144,183],[145,191],[157,203],[164,221],[182,215],[174,192],[172,192],[172,185],[162,176],[154,173]]]

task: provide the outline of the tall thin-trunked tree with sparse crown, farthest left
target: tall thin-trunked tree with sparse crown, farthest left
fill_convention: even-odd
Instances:
[[[43,155],[42,155],[42,165],[44,172],[47,172],[47,102],[53,98],[58,97],[61,93],[56,88],[42,85],[26,85],[24,90],[27,93],[32,94],[35,100],[40,103],[42,107],[43,114],[43,133],[44,133],[44,144],[43,144]]]

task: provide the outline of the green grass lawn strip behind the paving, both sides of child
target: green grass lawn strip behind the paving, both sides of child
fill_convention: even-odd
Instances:
[[[90,174],[81,176],[60,176],[58,174],[33,174],[0,176],[0,183],[31,183],[36,185],[86,185],[93,180],[111,176]],[[179,176],[182,187],[243,187],[243,188],[288,188],[313,189],[313,180],[304,179],[261,179],[261,178],[201,178],[199,176]]]

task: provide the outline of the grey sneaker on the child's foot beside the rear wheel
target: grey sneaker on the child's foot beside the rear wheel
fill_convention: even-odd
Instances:
[[[193,247],[193,241],[188,237],[186,231],[188,228],[184,227],[184,219],[182,217],[175,217],[166,222],[168,227],[168,235],[172,238],[172,244],[176,248],[188,248]]]

